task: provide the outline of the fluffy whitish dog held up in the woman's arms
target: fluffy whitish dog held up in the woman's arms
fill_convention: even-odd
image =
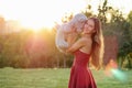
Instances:
[[[61,52],[64,53],[68,47],[66,35],[73,32],[73,28],[76,29],[77,33],[80,33],[87,20],[88,18],[85,14],[78,13],[69,22],[57,26],[55,43]]]

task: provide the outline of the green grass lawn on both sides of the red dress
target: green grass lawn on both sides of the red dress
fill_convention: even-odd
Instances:
[[[128,79],[121,81],[108,77],[103,70],[91,70],[98,88],[132,88],[132,70],[125,70]],[[69,68],[0,69],[0,88],[67,88]]]

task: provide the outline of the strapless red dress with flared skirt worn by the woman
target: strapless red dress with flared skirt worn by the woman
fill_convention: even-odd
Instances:
[[[92,74],[87,66],[89,56],[81,51],[75,52],[68,88],[97,88]]]

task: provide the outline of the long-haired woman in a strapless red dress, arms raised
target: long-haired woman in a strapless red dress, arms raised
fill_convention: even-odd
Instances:
[[[74,37],[74,34],[70,36]],[[70,46],[66,52],[75,55],[68,88],[97,88],[87,64],[90,61],[96,69],[101,67],[103,37],[100,21],[97,18],[89,18],[84,25],[81,37],[74,42],[75,40],[75,37],[67,40]]]

